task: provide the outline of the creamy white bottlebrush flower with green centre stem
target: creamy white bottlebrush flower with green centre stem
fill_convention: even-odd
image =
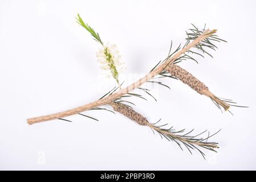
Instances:
[[[105,72],[106,76],[112,76],[119,84],[119,73],[124,71],[125,67],[116,45],[107,43],[101,46],[96,56],[97,61],[100,63],[100,68]]]

